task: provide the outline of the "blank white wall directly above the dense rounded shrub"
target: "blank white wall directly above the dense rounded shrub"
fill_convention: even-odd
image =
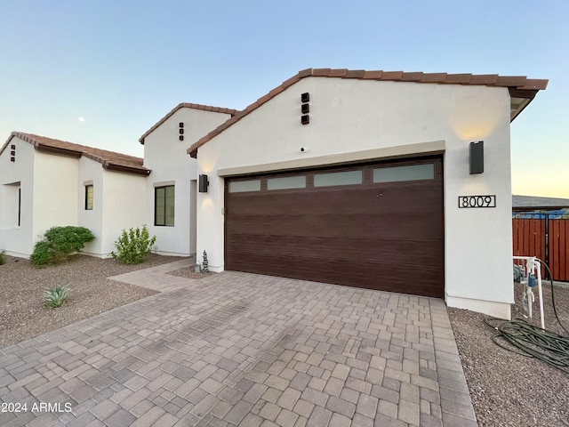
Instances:
[[[54,226],[77,225],[79,159],[36,151],[32,238]]]

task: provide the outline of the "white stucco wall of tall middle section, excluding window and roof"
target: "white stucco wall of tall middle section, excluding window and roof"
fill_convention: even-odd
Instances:
[[[188,255],[196,253],[196,237],[190,230],[195,220],[191,212],[192,188],[196,180],[196,160],[186,149],[194,141],[228,120],[228,114],[183,108],[176,111],[144,141],[144,165],[152,170],[146,187],[146,215],[151,234],[156,235],[159,254]],[[184,141],[179,141],[179,124],[184,123]],[[154,189],[175,186],[174,226],[154,225]],[[195,191],[195,190],[194,190]]]

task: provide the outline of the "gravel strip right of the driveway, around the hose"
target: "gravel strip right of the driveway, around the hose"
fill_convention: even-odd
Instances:
[[[569,329],[569,288],[555,286],[554,292],[557,313]],[[515,294],[512,318],[523,318],[522,286],[515,286]],[[543,283],[543,302],[545,328],[567,336],[553,313],[549,282]],[[501,349],[493,342],[497,331],[485,324],[488,316],[448,312],[480,427],[569,426],[569,374]],[[540,326],[537,297],[531,323]]]

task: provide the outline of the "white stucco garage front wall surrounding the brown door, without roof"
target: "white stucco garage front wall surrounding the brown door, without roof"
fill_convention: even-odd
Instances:
[[[301,93],[310,124],[301,125]],[[485,141],[485,173],[469,174],[469,142]],[[441,141],[430,143],[431,141]],[[306,150],[301,152],[301,147]],[[409,152],[445,152],[445,299],[509,317],[511,184],[507,88],[308,77],[198,149],[210,176],[197,198],[197,252],[223,270],[224,173],[278,170]],[[384,153],[384,154],[381,154]],[[258,165],[262,165],[259,167]],[[492,209],[459,209],[458,197],[496,195]]]

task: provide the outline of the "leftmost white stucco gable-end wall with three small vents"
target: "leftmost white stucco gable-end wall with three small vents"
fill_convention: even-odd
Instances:
[[[15,146],[14,162],[11,161]],[[12,138],[0,156],[0,251],[28,257],[32,253],[34,148],[28,142]],[[18,225],[19,189],[20,226]]]

